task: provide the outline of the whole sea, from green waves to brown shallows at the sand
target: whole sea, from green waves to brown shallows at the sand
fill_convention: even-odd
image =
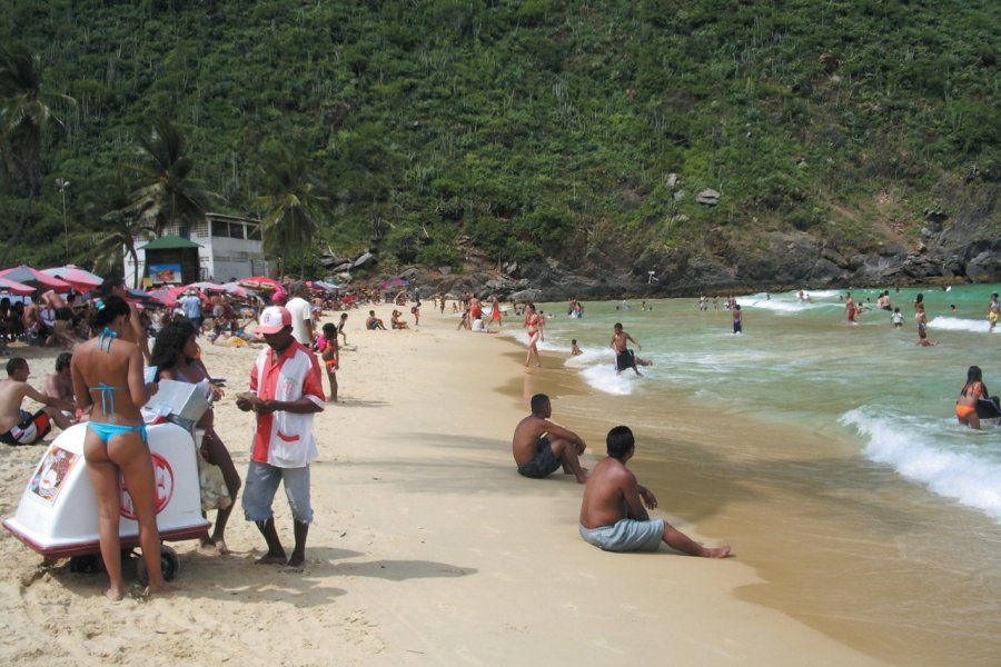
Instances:
[[[858,325],[845,291],[872,308]],[[875,309],[879,289],[743,296],[742,335],[724,295],[706,311],[697,299],[585,301],[581,319],[541,303],[545,367],[526,376],[556,395],[583,384],[554,400],[554,418],[589,429],[595,456],[595,434],[633,428],[633,467],[666,489],[662,507],[763,575],[747,599],[895,664],[998,665],[1001,426],[973,431],[953,412],[971,365],[1001,394],[994,291],[891,289],[901,329]],[[933,347],[916,345],[918,293]],[[614,370],[615,322],[653,362],[642,377]],[[527,340],[514,317],[505,332]]]

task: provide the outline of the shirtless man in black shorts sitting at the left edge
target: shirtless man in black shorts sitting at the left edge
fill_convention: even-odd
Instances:
[[[6,380],[0,380],[0,442],[7,445],[34,445],[52,430],[54,410],[75,410],[77,406],[68,400],[46,396],[28,384],[31,374],[28,361],[12,357],[7,362]],[[32,415],[21,409],[24,397],[43,406]]]

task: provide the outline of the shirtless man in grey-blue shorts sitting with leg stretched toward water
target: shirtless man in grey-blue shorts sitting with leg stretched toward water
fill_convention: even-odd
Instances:
[[[581,502],[578,530],[584,541],[605,551],[656,551],[663,541],[690,556],[726,558],[730,555],[729,546],[703,547],[664,519],[650,518],[646,510],[655,509],[657,499],[626,468],[636,451],[636,440],[628,427],[616,426],[609,430],[605,444],[608,456],[594,467]]]

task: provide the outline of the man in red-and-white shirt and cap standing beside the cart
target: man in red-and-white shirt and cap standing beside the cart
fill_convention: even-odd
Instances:
[[[313,437],[313,416],[324,409],[323,376],[316,356],[293,337],[291,313],[280,306],[265,308],[257,332],[268,347],[250,370],[250,391],[237,398],[237,407],[257,412],[250,467],[244,485],[244,514],[254,521],[268,545],[258,563],[303,569],[306,536],[313,521],[309,501],[309,464],[318,451]],[[271,505],[278,484],[291,508],[296,546],[286,556]]]

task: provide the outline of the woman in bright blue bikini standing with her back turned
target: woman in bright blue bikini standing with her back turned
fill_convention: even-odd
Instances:
[[[156,480],[139,412],[139,406],[149,400],[142,381],[142,354],[135,342],[120,338],[131,326],[129,317],[129,305],[121,297],[99,301],[91,320],[98,336],[79,345],[70,364],[77,407],[90,412],[83,459],[97,496],[101,558],[111,583],[105,595],[112,600],[125,595],[118,534],[121,477],[139,522],[139,546],[149,574],[147,593],[174,590],[160,569]]]

